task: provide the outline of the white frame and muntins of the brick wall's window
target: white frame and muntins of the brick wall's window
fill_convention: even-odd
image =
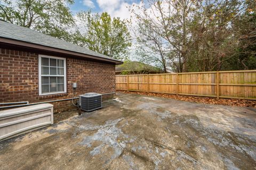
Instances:
[[[47,93],[43,93],[42,94],[42,57],[44,58],[53,58],[53,59],[59,59],[59,60],[63,60],[63,64],[64,64],[64,74],[63,75],[45,75],[47,77],[63,77],[64,78],[64,91],[59,91],[59,92],[47,92]],[[58,63],[58,61],[57,61]],[[50,65],[49,65],[50,67]],[[58,70],[58,67],[57,67]],[[54,57],[54,56],[49,56],[49,55],[38,55],[38,90],[39,90],[39,96],[44,96],[44,95],[54,95],[54,94],[64,94],[67,92],[67,64],[66,64],[66,58],[63,57]],[[50,72],[49,72],[50,74]],[[50,83],[50,82],[49,82]],[[57,86],[57,85],[56,85]],[[50,89],[49,89],[50,90]]]

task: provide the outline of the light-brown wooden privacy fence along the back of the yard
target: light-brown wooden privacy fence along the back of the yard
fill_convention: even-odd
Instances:
[[[256,70],[116,75],[116,90],[256,100]]]

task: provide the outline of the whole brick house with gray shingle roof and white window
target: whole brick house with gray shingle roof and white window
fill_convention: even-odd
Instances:
[[[0,21],[0,103],[50,102],[57,113],[75,108],[71,98],[86,92],[111,97],[115,95],[115,65],[122,63]]]

